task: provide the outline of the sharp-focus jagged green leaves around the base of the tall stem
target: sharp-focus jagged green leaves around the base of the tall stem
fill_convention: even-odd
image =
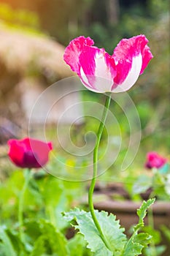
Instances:
[[[72,225],[80,231],[88,242],[88,248],[94,252],[94,255],[115,255],[115,256],[136,256],[142,253],[142,249],[150,244],[152,236],[148,233],[138,233],[141,227],[144,227],[144,217],[155,199],[144,201],[142,206],[137,210],[139,216],[139,223],[134,226],[134,233],[127,241],[124,229],[120,227],[113,214],[107,214],[105,211],[95,211],[101,230],[109,243],[109,249],[105,246],[104,241],[98,234],[98,230],[94,225],[90,212],[80,211],[75,208],[69,212],[64,213],[64,219],[71,222]]]

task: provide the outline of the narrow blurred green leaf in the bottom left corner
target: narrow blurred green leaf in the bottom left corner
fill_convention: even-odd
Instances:
[[[15,249],[12,246],[12,242],[10,241],[9,237],[7,236],[6,231],[3,227],[0,227],[0,239],[3,244],[2,249],[4,250],[5,256],[17,256]]]

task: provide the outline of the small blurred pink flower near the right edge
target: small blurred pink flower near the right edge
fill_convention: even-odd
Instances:
[[[167,159],[164,157],[161,157],[157,152],[149,152],[147,154],[147,162],[145,163],[145,167],[147,169],[155,168],[161,168],[163,165],[165,165],[167,162]]]

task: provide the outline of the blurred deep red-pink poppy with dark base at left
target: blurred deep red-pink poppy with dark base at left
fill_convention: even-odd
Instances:
[[[24,138],[23,140],[8,140],[9,159],[21,168],[39,168],[48,162],[52,143]]]

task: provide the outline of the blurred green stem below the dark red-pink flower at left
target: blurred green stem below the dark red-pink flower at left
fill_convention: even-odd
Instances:
[[[18,221],[19,221],[19,232],[20,232],[20,240],[24,241],[24,235],[23,235],[23,203],[24,203],[24,195],[26,192],[26,189],[28,187],[28,183],[31,178],[31,170],[26,169],[24,171],[24,176],[25,176],[25,181],[23,184],[23,189],[20,192],[20,197],[19,197],[19,206],[18,206]]]

